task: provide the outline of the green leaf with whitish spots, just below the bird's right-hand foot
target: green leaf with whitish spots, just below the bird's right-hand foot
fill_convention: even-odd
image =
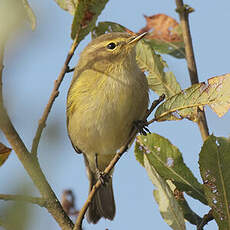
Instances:
[[[161,177],[171,180],[178,190],[207,204],[202,185],[185,165],[179,149],[169,140],[155,133],[138,136],[135,155],[142,165],[144,165],[144,154]]]

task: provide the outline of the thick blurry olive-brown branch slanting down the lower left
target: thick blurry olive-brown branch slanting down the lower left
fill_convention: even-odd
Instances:
[[[3,70],[3,55],[4,46],[0,44],[0,129],[7,138],[9,144],[17,154],[17,157],[23,164],[25,170],[29,174],[30,178],[38,188],[42,197],[47,199],[47,210],[57,221],[59,226],[63,230],[72,230],[73,223],[70,218],[66,215],[52,188],[47,182],[38,159],[35,154],[30,154],[22,139],[15,130],[10,118],[5,110],[2,95],[2,70]],[[50,205],[49,205],[50,204]]]

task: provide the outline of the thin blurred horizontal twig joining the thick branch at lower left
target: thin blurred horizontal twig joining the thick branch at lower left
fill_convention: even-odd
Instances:
[[[25,196],[25,195],[9,195],[0,194],[0,200],[11,200],[11,201],[24,201],[32,204],[37,204],[40,207],[46,207],[47,200],[41,197]]]

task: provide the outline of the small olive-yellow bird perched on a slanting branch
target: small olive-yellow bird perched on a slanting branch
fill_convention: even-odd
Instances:
[[[146,113],[148,83],[137,65],[135,49],[145,34],[101,35],[86,46],[75,68],[67,97],[67,128],[74,149],[84,155],[89,190],[98,170],[104,171],[127,141],[134,122]],[[101,217],[113,220],[114,216],[110,177],[96,192],[87,219],[97,223]]]

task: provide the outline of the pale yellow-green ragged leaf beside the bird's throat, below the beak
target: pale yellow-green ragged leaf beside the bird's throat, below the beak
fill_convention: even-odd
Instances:
[[[163,93],[171,97],[181,91],[179,83],[172,72],[165,73],[166,63],[157,55],[146,41],[137,44],[137,62],[147,72],[149,87],[159,96]]]

